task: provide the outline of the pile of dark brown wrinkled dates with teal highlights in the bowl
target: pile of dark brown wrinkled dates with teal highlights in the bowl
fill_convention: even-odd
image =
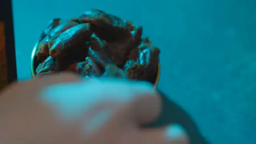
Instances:
[[[72,71],[82,77],[151,81],[158,73],[160,50],[142,31],[97,9],[77,19],[54,19],[40,35],[36,76]]]

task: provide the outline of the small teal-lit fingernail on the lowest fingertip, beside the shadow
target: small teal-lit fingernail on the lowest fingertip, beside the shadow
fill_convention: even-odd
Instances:
[[[177,124],[170,125],[166,129],[166,137],[168,140],[181,139],[186,135],[185,130]]]

